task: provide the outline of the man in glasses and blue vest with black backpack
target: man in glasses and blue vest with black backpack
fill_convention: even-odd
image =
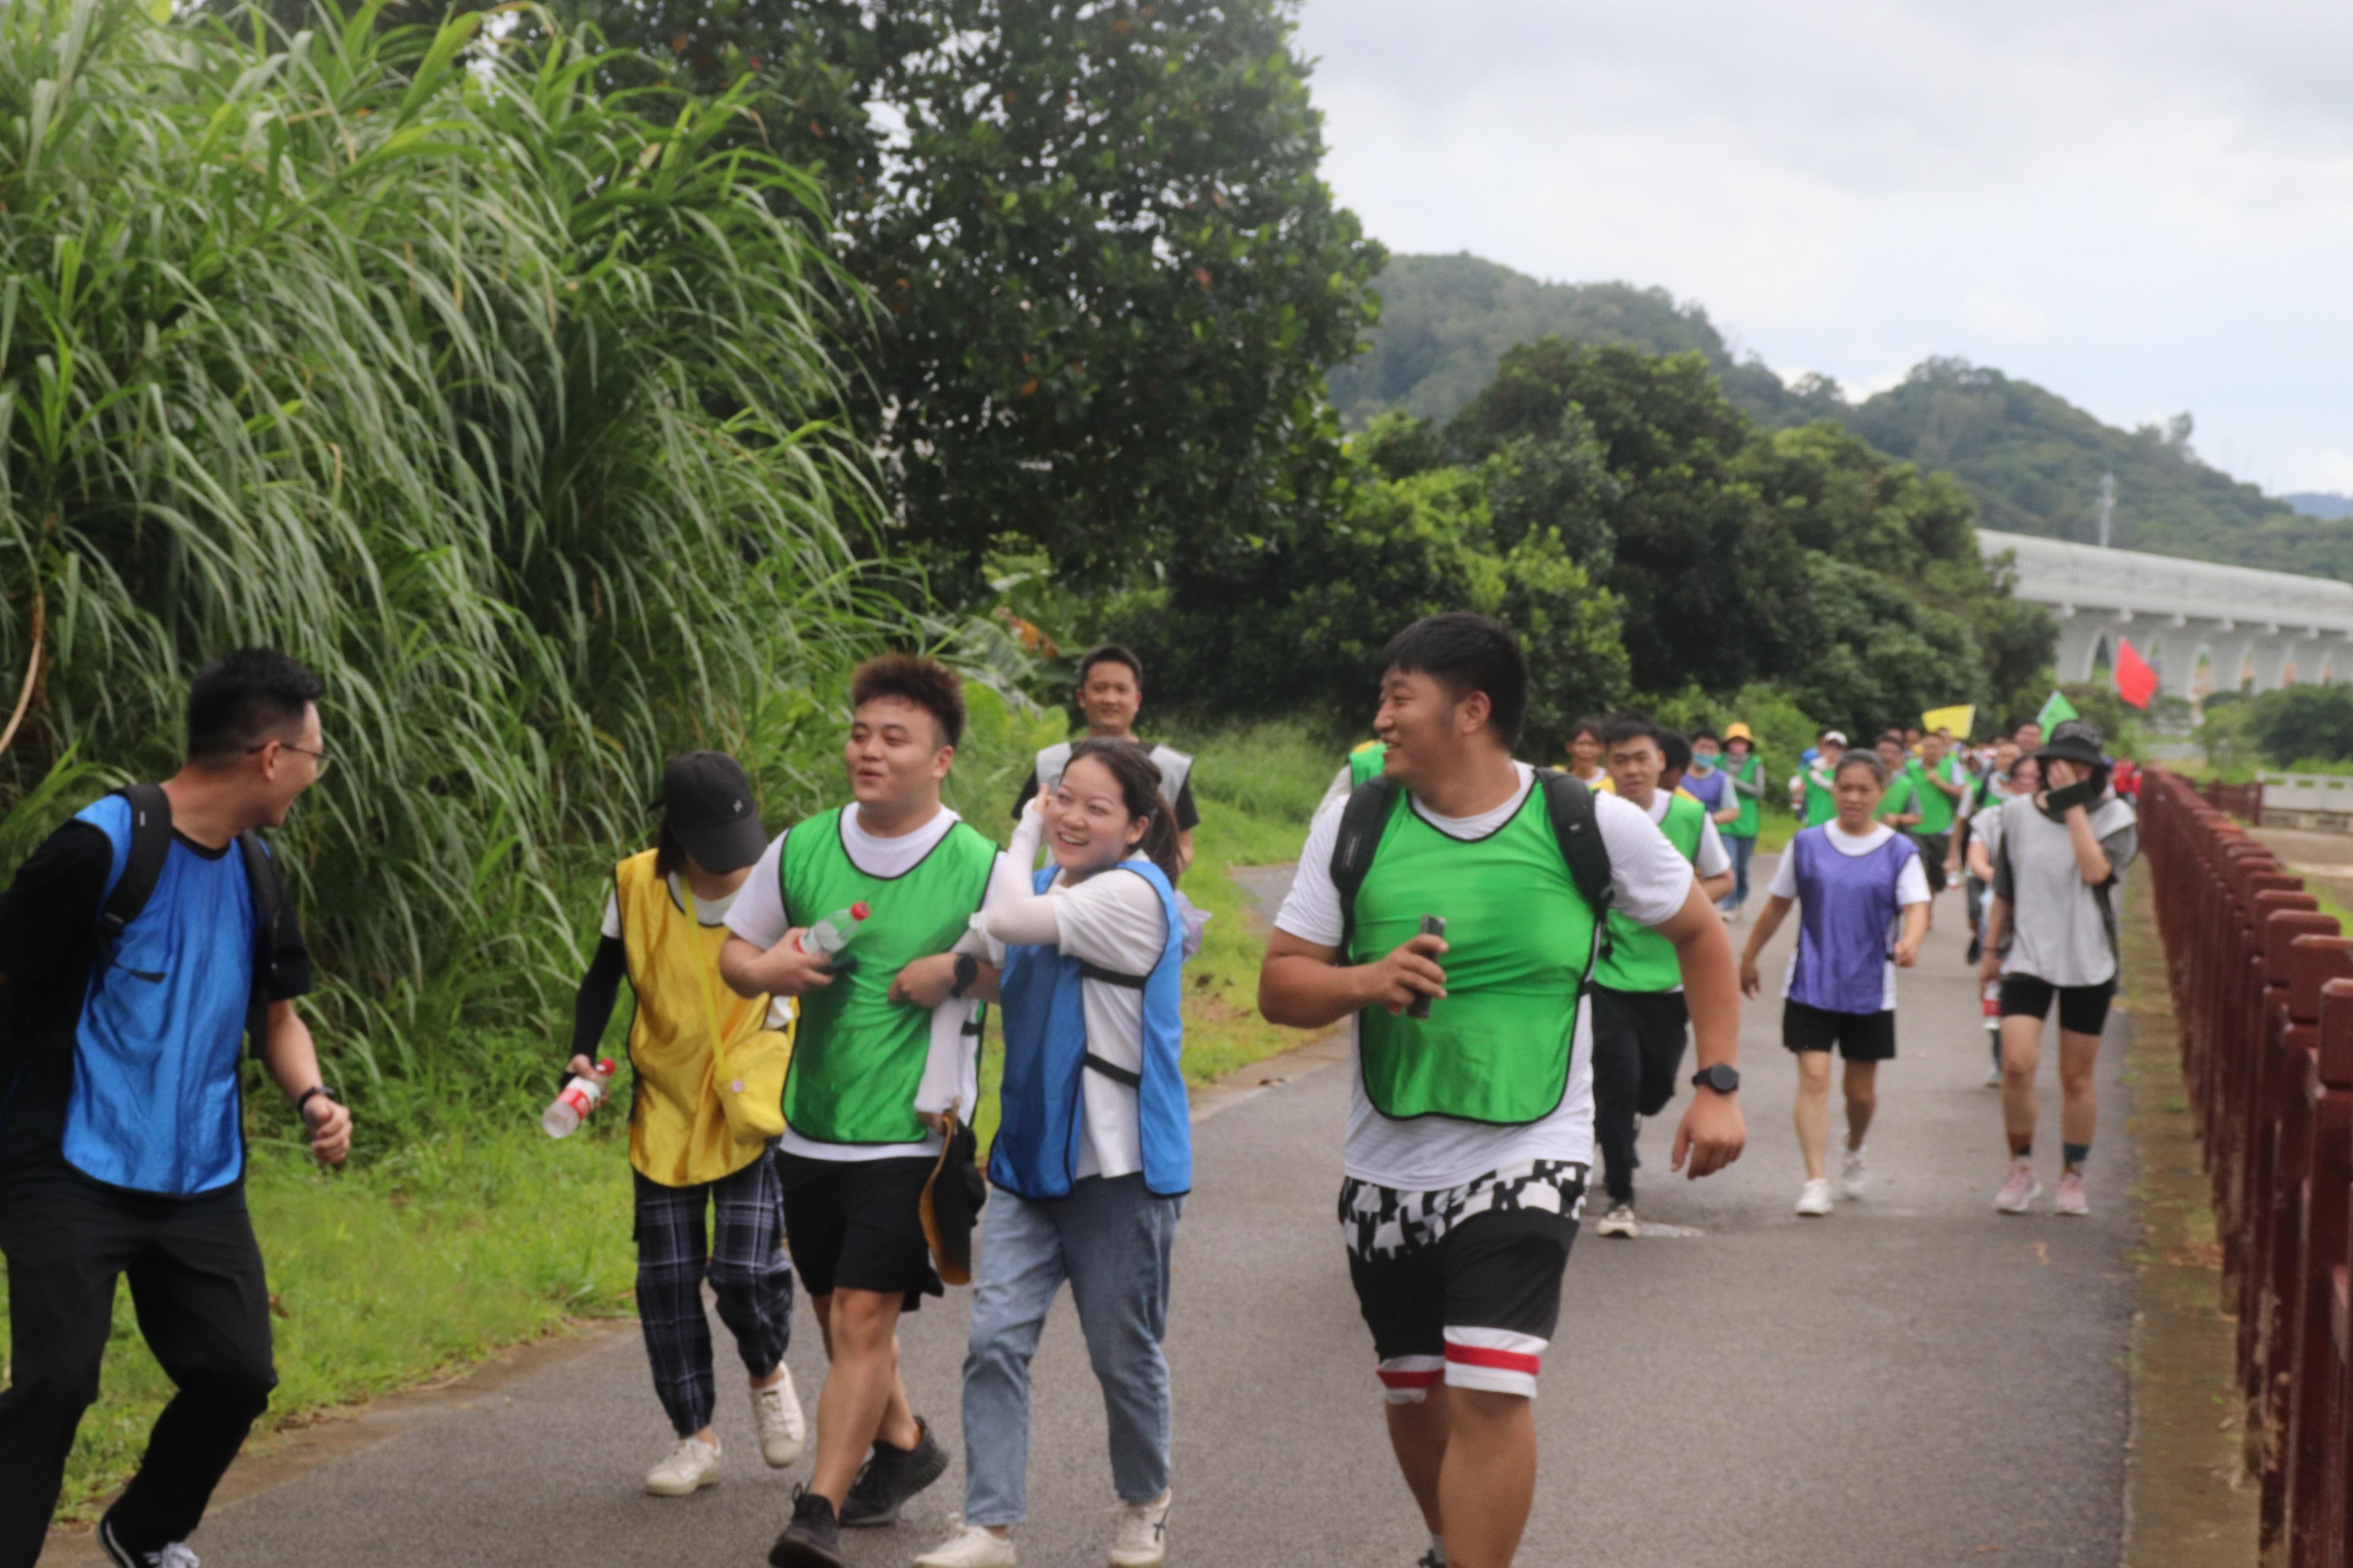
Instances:
[[[247,649],[188,691],[188,759],[59,827],[0,896],[7,971],[0,1253],[14,1382],[0,1394],[0,1563],[40,1556],[66,1450],[99,1392],[129,1274],[139,1328],[179,1387],[139,1474],[99,1521],[118,1568],[195,1563],[186,1540],[278,1382],[271,1295],[245,1213],[238,1046],[341,1164],[351,1114],[318,1077],[294,997],[311,954],[261,849],[327,771],[320,679]],[[115,905],[125,877],[151,891]],[[275,910],[271,929],[259,929]],[[120,919],[120,929],[115,929]]]

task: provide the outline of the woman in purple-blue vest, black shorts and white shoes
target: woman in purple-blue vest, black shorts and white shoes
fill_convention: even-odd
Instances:
[[[1845,752],[1831,776],[1838,816],[1788,842],[1765,912],[1741,952],[1741,990],[1762,990],[1758,954],[1798,905],[1798,950],[1781,992],[1781,1044],[1798,1058],[1798,1150],[1805,1187],[1798,1213],[1831,1213],[1831,1051],[1847,1058],[1847,1197],[1864,1190],[1864,1135],[1878,1112],[1878,1070],[1897,1053],[1897,969],[1911,969],[1927,936],[1927,872],[1920,846],[1878,820],[1887,764]]]

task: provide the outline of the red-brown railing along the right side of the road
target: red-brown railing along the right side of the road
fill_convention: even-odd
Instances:
[[[2353,940],[2219,790],[2151,771],[2141,844],[2238,1312],[2261,1561],[2348,1568]]]

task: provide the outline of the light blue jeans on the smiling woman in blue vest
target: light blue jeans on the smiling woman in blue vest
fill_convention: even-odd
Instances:
[[[1002,1528],[1028,1514],[1028,1366],[1064,1279],[1104,1385],[1120,1502],[1151,1502],[1169,1488],[1169,1363],[1160,1340],[1181,1211],[1184,1199],[1153,1197],[1141,1175],[1092,1175],[1066,1199],[988,1194],[965,1354],[967,1523]]]

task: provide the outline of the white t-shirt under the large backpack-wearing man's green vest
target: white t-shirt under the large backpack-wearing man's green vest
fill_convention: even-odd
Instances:
[[[1534,769],[1513,764],[1520,773],[1520,790],[1478,816],[1447,818],[1421,809],[1414,811],[1438,832],[1454,839],[1482,839],[1511,820],[1527,792],[1537,783]],[[1339,837],[1344,802],[1332,802],[1315,813],[1308,842],[1299,851],[1299,875],[1292,882],[1275,929],[1289,931],[1304,943],[1337,947],[1341,940],[1339,889],[1332,886],[1332,842]],[[1692,865],[1666,835],[1617,795],[1593,795],[1593,820],[1609,851],[1609,884],[1614,907],[1631,919],[1657,926],[1673,919],[1675,910],[1692,893]],[[1355,1023],[1348,1025],[1351,1041]],[[1593,1164],[1593,1018],[1586,1006],[1577,1009],[1577,1032],[1569,1044],[1569,1088],[1544,1121],[1527,1126],[1480,1126],[1454,1117],[1417,1117],[1393,1121],[1374,1110],[1365,1093],[1365,1072],[1358,1063],[1353,1098],[1348,1105],[1348,1175],[1379,1187],[1407,1192],[1431,1192],[1461,1187],[1464,1182],[1499,1171],[1522,1159],[1569,1159]]]

